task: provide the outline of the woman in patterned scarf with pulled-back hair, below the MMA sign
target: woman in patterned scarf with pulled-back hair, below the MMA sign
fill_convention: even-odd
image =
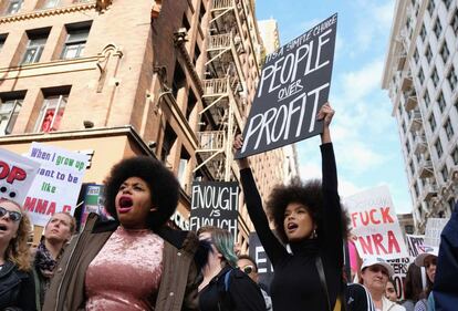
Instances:
[[[54,268],[75,229],[76,221],[69,212],[55,212],[44,227],[44,235],[37,248],[33,262],[38,310],[43,307],[44,294],[51,284]]]

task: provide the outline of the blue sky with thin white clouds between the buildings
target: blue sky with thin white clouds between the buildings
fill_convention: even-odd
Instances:
[[[257,19],[275,19],[285,44],[339,13],[330,102],[340,193],[388,185],[398,214],[412,211],[396,120],[382,74],[395,1],[258,0]],[[298,144],[301,177],[321,177],[318,137]]]

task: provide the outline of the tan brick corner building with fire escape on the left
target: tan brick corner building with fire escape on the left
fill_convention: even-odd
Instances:
[[[238,179],[232,139],[260,74],[253,1],[2,0],[0,24],[1,147],[86,153],[97,184],[121,158],[156,157],[181,184],[184,228],[194,180]],[[282,156],[252,158],[263,195]]]

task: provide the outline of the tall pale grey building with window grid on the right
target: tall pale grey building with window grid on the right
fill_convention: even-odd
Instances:
[[[417,229],[458,198],[458,3],[396,1],[383,89],[393,103]]]

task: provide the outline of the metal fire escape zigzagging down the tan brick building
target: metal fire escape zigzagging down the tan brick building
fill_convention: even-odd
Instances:
[[[244,53],[241,40],[241,3],[236,0],[212,0],[208,33],[204,110],[200,112],[201,131],[197,133],[202,162],[195,172],[206,166],[215,180],[233,179],[232,143],[241,132],[246,101],[240,54]],[[210,120],[210,122],[205,122]],[[207,124],[208,123],[208,124]]]

